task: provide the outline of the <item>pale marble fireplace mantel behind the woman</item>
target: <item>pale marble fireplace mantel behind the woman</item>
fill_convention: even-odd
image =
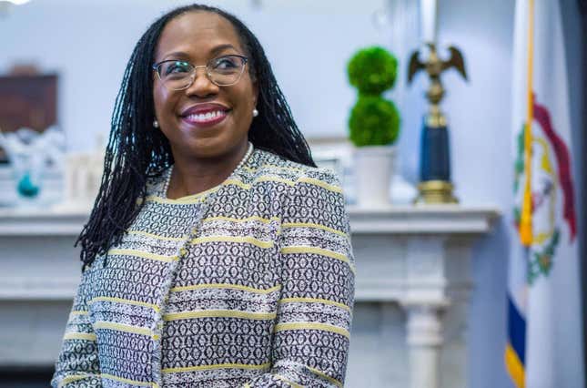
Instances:
[[[66,319],[79,281],[73,243],[87,215],[0,209],[0,315],[15,317],[23,306],[42,303],[49,309],[54,303]],[[380,341],[386,341],[385,326],[401,325],[408,368],[397,382],[381,377],[366,384],[360,375],[361,350],[353,351],[353,345],[360,344],[351,341],[347,386],[469,386],[467,359],[474,355],[468,353],[464,332],[472,287],[471,251],[475,240],[491,231],[499,211],[456,205],[349,207],[349,217],[357,265],[356,305],[378,303],[383,310],[400,306],[401,322],[381,315]],[[56,322],[53,332],[46,326],[44,333],[33,337],[31,326],[25,330],[17,322],[0,320],[0,342],[8,343],[0,348],[0,365],[53,363],[65,322]],[[41,330],[37,326],[32,327]],[[41,351],[31,352],[33,347]]]

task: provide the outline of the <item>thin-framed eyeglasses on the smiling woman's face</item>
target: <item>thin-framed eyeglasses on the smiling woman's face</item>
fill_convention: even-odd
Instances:
[[[153,65],[157,77],[170,90],[183,90],[190,87],[196,79],[196,69],[206,68],[206,75],[218,87],[229,87],[238,82],[243,75],[247,56],[219,56],[210,59],[207,65],[194,66],[186,61],[169,59]]]

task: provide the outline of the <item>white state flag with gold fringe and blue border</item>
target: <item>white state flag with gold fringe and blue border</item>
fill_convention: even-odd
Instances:
[[[519,388],[583,388],[568,87],[559,1],[517,0],[505,362]]]

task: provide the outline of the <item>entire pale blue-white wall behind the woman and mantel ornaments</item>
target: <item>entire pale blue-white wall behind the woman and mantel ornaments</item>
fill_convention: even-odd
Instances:
[[[157,15],[186,3],[158,0],[33,0],[0,18],[0,71],[15,61],[34,61],[58,71],[59,121],[73,149],[94,146],[106,133],[127,58],[138,36]],[[417,2],[401,0],[265,0],[254,9],[244,0],[214,2],[242,17],[265,46],[299,127],[309,137],[345,136],[355,93],[345,74],[361,46],[389,46],[400,58],[401,79],[390,93],[400,106],[401,168],[418,178],[420,120],[425,78],[405,86],[406,59],[418,42]],[[411,5],[410,5],[411,3]],[[373,13],[385,4],[394,23],[378,30]],[[563,1],[571,9],[574,1]],[[443,78],[448,96],[453,180],[463,203],[511,204],[511,0],[440,1],[440,43],[460,47],[470,76]],[[400,14],[400,11],[402,12]],[[563,11],[565,15],[572,11]],[[570,18],[569,38],[578,41],[579,20]],[[574,27],[573,27],[574,26]],[[578,45],[577,45],[578,46]],[[581,56],[578,56],[580,58]],[[572,71],[579,72],[576,66]],[[576,106],[577,107],[577,106]],[[473,388],[509,387],[502,352],[506,341],[508,228],[502,221],[475,249],[476,286],[470,312],[470,375]]]

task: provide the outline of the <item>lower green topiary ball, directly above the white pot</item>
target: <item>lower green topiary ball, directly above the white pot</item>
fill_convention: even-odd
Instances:
[[[360,96],[350,111],[349,129],[356,147],[386,146],[400,134],[400,112],[385,98]]]

